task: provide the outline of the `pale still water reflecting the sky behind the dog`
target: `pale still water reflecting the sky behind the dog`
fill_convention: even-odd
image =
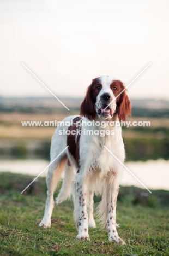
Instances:
[[[1,172],[13,172],[37,176],[49,162],[45,160],[1,160]],[[169,161],[159,159],[156,161],[149,160],[146,162],[127,162],[125,166],[135,174],[135,176],[148,189],[165,189],[169,190]],[[47,170],[41,176],[46,176]],[[144,188],[125,168],[120,185],[135,185]]]

